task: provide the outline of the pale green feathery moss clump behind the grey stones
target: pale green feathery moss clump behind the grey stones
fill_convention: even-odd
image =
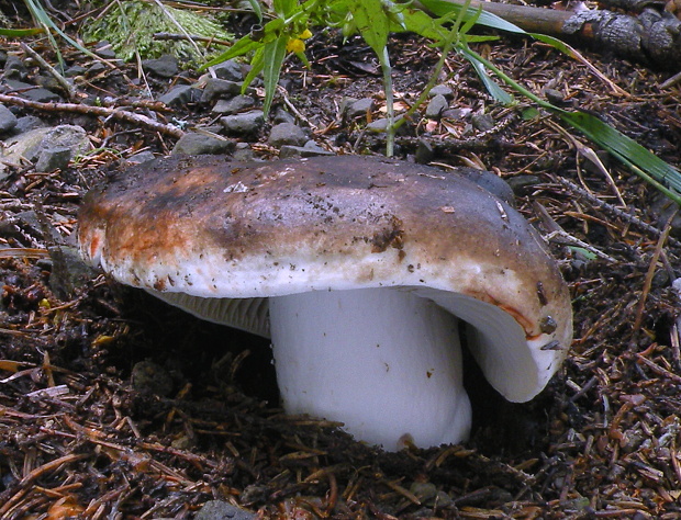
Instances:
[[[86,24],[81,30],[81,36],[86,42],[109,42],[116,56],[126,61],[136,53],[143,59],[171,54],[180,63],[189,65],[202,61],[204,56],[210,55],[201,42],[197,42],[197,45],[202,54],[187,39],[154,39],[156,33],[181,34],[182,31],[175,22],[191,36],[232,39],[232,35],[208,14],[197,14],[168,5],[161,8],[156,3],[143,1],[120,2],[101,19]],[[222,47],[217,49],[224,50]]]

